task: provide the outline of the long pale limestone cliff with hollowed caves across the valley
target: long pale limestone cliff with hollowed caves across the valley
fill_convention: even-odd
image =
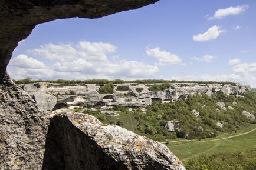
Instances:
[[[68,106],[95,106],[95,105],[122,105],[122,106],[147,106],[153,101],[170,102],[188,95],[201,94],[211,90],[211,94],[220,91],[219,84],[170,84],[170,87],[158,92],[149,91],[152,84],[115,84],[113,94],[99,94],[97,91],[99,84],[52,84],[48,82],[38,82],[35,84],[20,85],[32,97],[38,106],[44,111],[60,109]],[[209,87],[208,87],[209,86]],[[228,85],[224,85],[228,86]],[[238,86],[238,87],[237,87]],[[241,91],[228,91],[227,95],[240,95],[242,92],[249,91],[250,88],[242,88],[242,85],[228,86],[230,89],[244,89]],[[240,88],[239,88],[240,87]],[[141,89],[138,92],[136,89]],[[247,89],[247,90],[245,90]],[[57,103],[55,102],[57,96]],[[45,101],[41,101],[41,100]],[[53,106],[54,107],[54,106]]]

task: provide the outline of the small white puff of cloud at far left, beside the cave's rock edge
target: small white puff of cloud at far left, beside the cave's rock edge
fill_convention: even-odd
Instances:
[[[10,65],[17,66],[18,68],[45,68],[43,62],[23,54],[18,55],[16,58],[12,59]]]

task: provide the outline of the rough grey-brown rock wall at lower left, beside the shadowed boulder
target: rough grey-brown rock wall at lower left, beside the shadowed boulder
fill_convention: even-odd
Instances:
[[[8,75],[0,85],[0,169],[41,169],[48,119]]]

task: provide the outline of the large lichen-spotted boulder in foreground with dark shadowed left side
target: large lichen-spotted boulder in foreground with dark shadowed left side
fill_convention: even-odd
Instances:
[[[68,109],[52,112],[45,149],[48,170],[185,170],[165,145]]]

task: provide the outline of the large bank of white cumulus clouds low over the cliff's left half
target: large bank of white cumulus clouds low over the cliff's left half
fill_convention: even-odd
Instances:
[[[11,68],[8,69],[12,78],[136,79],[152,78],[159,71],[157,66],[110,57],[116,53],[116,46],[103,42],[49,43],[29,52],[48,65],[27,55],[19,55],[11,60]]]

